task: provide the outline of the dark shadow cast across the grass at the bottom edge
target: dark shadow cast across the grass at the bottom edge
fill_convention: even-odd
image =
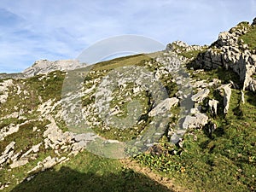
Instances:
[[[67,166],[62,166],[58,172],[48,170],[38,173],[31,181],[24,181],[12,190],[12,192],[18,191],[171,192],[172,190],[131,169],[125,169],[118,174],[97,175],[94,172],[77,172]]]

